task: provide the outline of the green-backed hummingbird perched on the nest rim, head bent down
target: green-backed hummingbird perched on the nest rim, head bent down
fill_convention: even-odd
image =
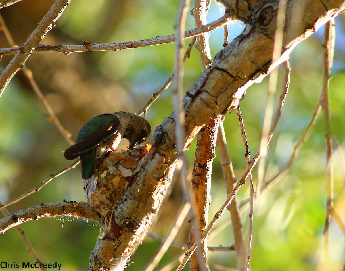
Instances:
[[[89,120],[78,132],[77,143],[63,152],[67,160],[80,156],[81,176],[89,179],[95,171],[96,159],[115,151],[122,138],[129,148],[144,142],[151,133],[146,119],[135,113],[115,112],[100,114]]]

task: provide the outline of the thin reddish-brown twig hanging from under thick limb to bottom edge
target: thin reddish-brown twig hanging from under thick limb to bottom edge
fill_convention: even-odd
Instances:
[[[250,162],[250,151],[248,147],[248,141],[246,136],[246,130],[244,129],[244,123],[243,123],[243,117],[241,110],[239,108],[239,104],[236,108],[237,117],[239,121],[239,127],[241,130],[241,136],[245,151],[245,157],[246,157],[246,167],[248,168],[249,162]],[[247,245],[247,257],[246,257],[246,264],[244,271],[247,271],[249,267],[249,260],[250,260],[250,249],[252,247],[252,231],[253,231],[253,214],[254,214],[254,186],[253,186],[253,178],[252,178],[252,172],[249,173],[248,176],[249,180],[249,189],[250,189],[250,208],[249,208],[249,230],[248,230],[248,245]],[[242,268],[240,268],[242,270]]]

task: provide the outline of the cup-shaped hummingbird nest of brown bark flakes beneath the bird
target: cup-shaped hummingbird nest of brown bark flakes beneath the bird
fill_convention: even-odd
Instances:
[[[103,217],[111,215],[122,193],[134,183],[136,169],[150,150],[145,144],[131,150],[111,152],[96,161],[92,177],[83,180],[87,202]]]

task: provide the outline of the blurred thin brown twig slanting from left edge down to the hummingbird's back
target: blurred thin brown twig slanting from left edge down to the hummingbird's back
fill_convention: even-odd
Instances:
[[[0,25],[2,27],[2,32],[5,34],[5,37],[8,41],[8,43],[14,47],[16,46],[16,43],[14,42],[14,40],[12,39],[12,36],[10,34],[10,31],[8,31],[8,28],[6,26],[5,21],[3,20],[1,14],[0,14]],[[42,102],[43,106],[46,108],[46,110],[48,111],[52,122],[55,124],[55,126],[58,128],[58,130],[60,131],[60,133],[62,134],[62,136],[67,140],[67,142],[72,145],[75,142],[71,139],[71,134],[68,132],[68,130],[66,130],[65,128],[63,128],[61,122],[59,121],[59,119],[56,117],[56,114],[54,113],[54,111],[51,109],[50,104],[48,103],[47,99],[43,96],[41,90],[39,89],[36,81],[34,80],[33,76],[32,76],[32,71],[27,68],[24,67],[23,68],[23,73],[25,75],[25,77],[28,79],[32,89],[34,90],[34,92],[36,93],[37,97],[40,99],[40,101]]]

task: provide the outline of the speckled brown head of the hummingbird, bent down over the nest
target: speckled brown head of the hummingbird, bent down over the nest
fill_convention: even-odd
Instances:
[[[123,113],[121,122],[125,128],[123,137],[129,141],[130,149],[144,142],[151,133],[150,123],[135,113]]]

